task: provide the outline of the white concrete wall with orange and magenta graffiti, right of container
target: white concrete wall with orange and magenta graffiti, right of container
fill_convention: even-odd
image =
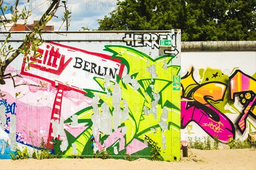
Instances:
[[[183,52],[181,138],[256,131],[256,52]],[[187,100],[187,101],[186,101]]]

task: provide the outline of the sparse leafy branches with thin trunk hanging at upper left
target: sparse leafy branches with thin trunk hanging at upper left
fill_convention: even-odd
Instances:
[[[27,0],[27,2],[29,3],[29,0]],[[60,0],[49,0],[49,2],[50,5],[48,9],[44,12],[39,22],[34,26],[29,34],[26,35],[23,43],[21,43],[17,49],[14,49],[11,44],[9,44],[9,40],[12,37],[12,32],[7,34],[4,33],[6,34],[6,40],[0,44],[0,84],[5,84],[5,79],[7,78],[12,78],[13,80],[14,77],[21,77],[19,74],[11,75],[10,73],[6,73],[6,67],[12,63],[12,61],[14,61],[18,55],[23,54],[25,56],[26,60],[24,60],[24,62],[29,62],[29,57],[31,56],[34,58],[34,61],[28,63],[28,69],[29,64],[37,62],[37,58],[41,57],[42,54],[38,53],[37,50],[38,46],[44,42],[44,40],[41,38],[41,35],[43,34],[42,31],[49,20],[51,20],[52,17],[56,17],[55,13],[60,7]],[[31,16],[32,11],[27,10],[26,6],[22,9],[22,11],[20,11],[18,8],[20,3],[24,3],[24,1],[20,2],[19,0],[16,0],[14,6],[3,6],[3,0],[0,0],[0,29],[7,30],[6,28],[8,24],[14,25],[18,20],[23,20],[24,24],[26,24],[28,18]],[[8,17],[7,13],[9,13],[11,17]],[[71,13],[68,10],[64,12],[64,17],[62,17],[63,23],[70,18],[70,14]],[[14,86],[19,85],[15,85],[14,82]],[[43,86],[43,84],[41,84],[41,86]]]

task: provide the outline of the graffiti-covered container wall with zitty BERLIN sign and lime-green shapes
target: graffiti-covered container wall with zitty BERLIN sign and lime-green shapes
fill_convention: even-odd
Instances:
[[[0,158],[15,147],[40,149],[43,138],[62,158],[103,149],[114,158],[150,158],[157,147],[162,160],[180,159],[180,30],[44,39],[40,58],[20,55],[6,69]]]

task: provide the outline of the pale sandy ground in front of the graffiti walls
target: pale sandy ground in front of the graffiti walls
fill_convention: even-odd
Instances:
[[[0,170],[256,170],[256,149],[196,150],[180,161],[115,159],[0,160]]]

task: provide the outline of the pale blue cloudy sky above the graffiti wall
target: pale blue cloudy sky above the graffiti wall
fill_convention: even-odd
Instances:
[[[14,6],[16,0],[4,0],[2,6]],[[67,8],[72,12],[70,26],[68,31],[83,30],[81,27],[88,27],[89,29],[98,28],[98,19],[103,19],[105,15],[108,15],[116,7],[117,0],[66,0]],[[29,17],[27,24],[32,24],[33,20],[40,20],[42,14],[49,7],[49,0],[20,0],[18,9],[22,11],[24,7],[32,10],[32,15]],[[63,21],[61,17],[64,16],[64,3],[60,3],[61,7],[55,13],[57,17],[52,17],[47,25],[53,25],[55,31],[65,31],[65,24],[61,26]],[[6,12],[6,17],[10,17],[10,11]],[[24,23],[19,21],[18,23]]]

